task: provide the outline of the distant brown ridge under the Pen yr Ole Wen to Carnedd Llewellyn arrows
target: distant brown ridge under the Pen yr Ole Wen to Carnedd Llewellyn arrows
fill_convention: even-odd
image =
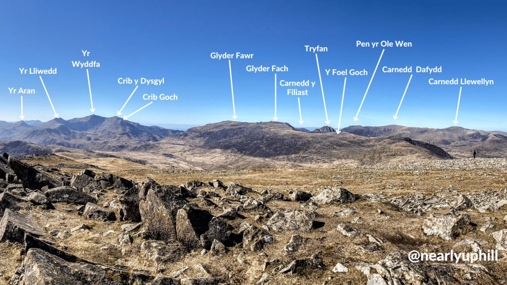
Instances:
[[[398,125],[381,127],[350,126],[342,131],[365,136],[403,136],[438,146],[453,157],[472,157],[474,150],[479,157],[504,158],[507,156],[507,133],[500,131],[469,130],[461,127],[445,129],[415,128]]]

